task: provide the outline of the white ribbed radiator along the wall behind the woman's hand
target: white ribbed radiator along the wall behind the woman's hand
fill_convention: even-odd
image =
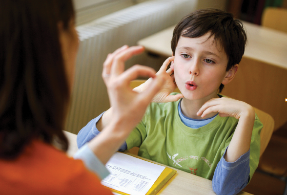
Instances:
[[[75,85],[65,130],[78,133],[91,119],[109,108],[102,81],[108,53],[176,24],[193,11],[197,0],[150,0],[77,27],[80,38]],[[140,64],[135,59],[127,66]]]

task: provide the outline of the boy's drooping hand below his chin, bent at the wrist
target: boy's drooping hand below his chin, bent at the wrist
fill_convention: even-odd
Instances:
[[[253,120],[255,117],[255,111],[249,104],[225,97],[208,100],[199,109],[197,115],[204,118],[211,112],[219,112],[221,117],[232,116],[236,119],[239,119],[241,116],[249,116]]]

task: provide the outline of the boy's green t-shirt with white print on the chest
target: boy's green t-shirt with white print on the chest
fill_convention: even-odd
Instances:
[[[207,125],[192,129],[179,117],[179,102],[151,103],[127,138],[127,149],[140,147],[139,156],[211,180],[238,120],[217,115]],[[250,179],[259,162],[262,127],[256,115],[250,145]]]

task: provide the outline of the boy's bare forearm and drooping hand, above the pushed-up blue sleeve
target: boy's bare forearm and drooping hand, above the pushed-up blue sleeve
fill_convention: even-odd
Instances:
[[[227,162],[235,162],[250,149],[255,111],[245,102],[223,97],[207,101],[197,115],[205,117],[211,112],[219,112],[221,117],[232,116],[238,119],[234,135],[225,153]]]

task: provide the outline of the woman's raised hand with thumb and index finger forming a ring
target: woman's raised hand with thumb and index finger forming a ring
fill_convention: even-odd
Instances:
[[[102,70],[102,78],[112,107],[111,119],[125,123],[126,129],[130,130],[141,121],[148,104],[163,86],[163,77],[156,75],[153,68],[134,65],[124,71],[124,62],[143,50],[142,46],[124,45],[108,55]],[[136,92],[129,85],[139,76],[151,78],[145,89]]]

